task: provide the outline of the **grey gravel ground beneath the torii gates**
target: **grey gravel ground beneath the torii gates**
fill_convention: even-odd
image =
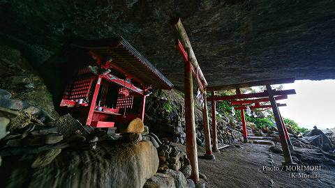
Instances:
[[[179,148],[186,149],[182,145]],[[214,153],[214,161],[201,159],[204,148],[198,148],[199,171],[208,178],[206,187],[335,187],[334,167],[322,166],[321,171],[312,172],[320,173],[320,178],[290,178],[290,172],[280,170],[283,156],[269,152],[268,148],[251,143],[224,148]],[[262,170],[272,164],[279,171]]]

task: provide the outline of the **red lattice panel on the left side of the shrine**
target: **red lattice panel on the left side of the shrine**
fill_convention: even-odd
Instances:
[[[68,92],[68,99],[82,99],[89,97],[89,91],[91,90],[92,83],[94,78],[85,78],[74,81],[70,91]]]

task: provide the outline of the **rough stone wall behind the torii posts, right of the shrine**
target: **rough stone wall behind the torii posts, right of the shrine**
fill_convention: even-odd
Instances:
[[[184,96],[180,91],[156,91],[148,97],[144,124],[161,138],[175,143],[185,143]],[[209,109],[210,103],[208,103]],[[204,131],[200,104],[195,102],[195,126],[197,143],[204,146]],[[209,111],[211,130],[211,111]],[[236,129],[236,130],[235,130]],[[218,143],[233,144],[243,141],[241,126],[233,117],[218,119]]]

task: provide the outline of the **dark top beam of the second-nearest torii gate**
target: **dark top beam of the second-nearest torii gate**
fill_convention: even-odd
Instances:
[[[294,82],[295,82],[295,78],[268,79],[268,80],[262,80],[262,81],[245,82],[245,83],[240,83],[240,84],[230,84],[230,85],[223,85],[223,86],[209,86],[207,87],[207,89],[211,91],[223,91],[223,90],[229,90],[229,89],[234,89],[234,88],[248,88],[248,87],[253,87],[253,86],[265,86],[267,84],[270,84],[270,85],[290,84]]]

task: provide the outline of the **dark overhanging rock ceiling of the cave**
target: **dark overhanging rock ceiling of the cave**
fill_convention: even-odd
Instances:
[[[329,0],[1,1],[0,36],[32,52],[36,65],[57,59],[69,38],[123,36],[180,86],[184,70],[170,25],[179,16],[210,85],[330,79],[334,10]]]

